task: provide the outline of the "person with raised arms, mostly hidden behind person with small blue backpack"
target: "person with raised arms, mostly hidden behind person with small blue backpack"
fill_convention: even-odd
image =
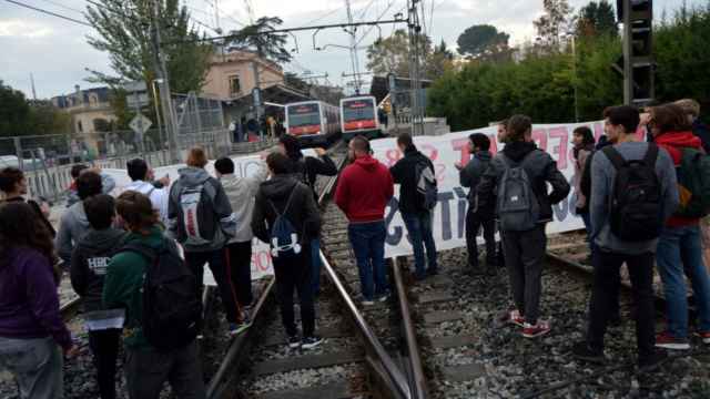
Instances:
[[[298,140],[290,134],[283,134],[278,139],[278,149],[282,154],[286,155],[291,161],[291,171],[296,178],[305,183],[313,192],[313,197],[318,201],[317,193],[315,192],[315,181],[321,176],[335,176],[337,175],[337,166],[335,162],[326,154],[323,149],[314,149],[316,155],[303,156],[301,152],[301,144]],[[321,290],[321,238],[318,236],[313,238],[311,243],[311,263],[312,263],[312,277],[313,277],[313,294],[318,295]]]

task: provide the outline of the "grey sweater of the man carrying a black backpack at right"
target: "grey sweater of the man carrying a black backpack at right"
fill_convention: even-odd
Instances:
[[[648,143],[621,143],[615,145],[615,149],[625,160],[641,160],[648,150]],[[661,185],[661,217],[662,221],[668,219],[678,207],[678,190],[676,168],[670,155],[662,150],[658,151],[656,160],[656,173]],[[591,197],[589,198],[589,211],[591,215],[591,238],[604,250],[640,255],[645,253],[655,253],[658,239],[649,239],[646,242],[631,243],[621,241],[611,233],[609,225],[609,209],[611,208],[613,180],[617,171],[606,154],[595,154],[591,160]]]

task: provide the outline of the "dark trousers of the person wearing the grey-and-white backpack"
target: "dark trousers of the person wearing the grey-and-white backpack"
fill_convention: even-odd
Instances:
[[[197,278],[197,287],[202,287],[204,264],[206,263],[210,265],[212,276],[220,289],[220,297],[222,298],[222,306],[224,306],[224,313],[226,314],[226,321],[236,323],[241,311],[236,300],[236,288],[230,279],[226,248],[210,252],[185,253],[185,262]],[[197,293],[200,290],[197,290]]]

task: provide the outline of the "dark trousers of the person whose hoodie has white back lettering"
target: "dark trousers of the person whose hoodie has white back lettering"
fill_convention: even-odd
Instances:
[[[115,398],[115,362],[119,358],[121,330],[118,328],[89,331],[89,348],[97,368],[101,399]]]

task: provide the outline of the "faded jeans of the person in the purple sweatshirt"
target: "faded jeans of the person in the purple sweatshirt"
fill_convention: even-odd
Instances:
[[[0,337],[0,370],[14,377],[20,399],[63,398],[62,352],[52,338]]]

